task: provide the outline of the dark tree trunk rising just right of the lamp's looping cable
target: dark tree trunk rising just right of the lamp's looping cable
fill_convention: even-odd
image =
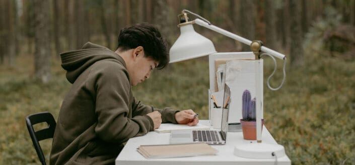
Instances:
[[[291,66],[297,67],[303,64],[302,47],[302,26],[301,26],[301,7],[297,0],[290,0],[290,33],[291,33]]]

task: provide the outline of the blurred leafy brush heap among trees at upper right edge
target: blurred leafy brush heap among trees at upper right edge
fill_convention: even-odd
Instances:
[[[342,23],[342,15],[333,7],[324,10],[324,17],[314,22],[306,34],[304,47],[321,56],[337,56],[347,60],[355,58],[355,27]],[[321,49],[317,49],[321,48]]]

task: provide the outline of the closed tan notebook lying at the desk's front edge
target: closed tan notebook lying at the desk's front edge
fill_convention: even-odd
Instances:
[[[206,143],[140,145],[137,151],[146,158],[215,155],[218,152]]]

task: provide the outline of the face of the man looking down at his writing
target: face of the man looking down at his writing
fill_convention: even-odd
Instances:
[[[137,54],[132,68],[133,70],[130,73],[132,86],[148,79],[153,69],[157,66],[158,62],[154,61],[152,58],[144,57],[144,52]]]

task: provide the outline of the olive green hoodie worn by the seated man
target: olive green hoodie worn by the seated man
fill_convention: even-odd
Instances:
[[[123,142],[154,130],[147,113],[158,110],[163,122],[176,123],[176,110],[135,100],[126,64],[111,50],[86,43],[60,57],[73,85],[60,108],[50,164],[114,164]]]

